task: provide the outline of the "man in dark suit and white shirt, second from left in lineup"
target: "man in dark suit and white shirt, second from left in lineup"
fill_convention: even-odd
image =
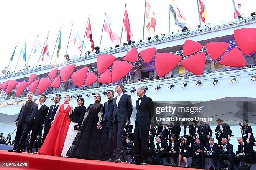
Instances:
[[[21,135],[19,144],[17,145],[17,150],[14,150],[13,152],[22,152],[22,149],[26,147],[26,138],[28,136],[28,133],[32,130],[31,143],[30,146],[27,148],[27,153],[31,153],[38,130],[40,130],[41,125],[43,125],[48,112],[48,107],[44,104],[46,98],[47,97],[45,95],[41,95],[39,103],[34,104],[31,107],[26,118],[26,124],[23,134]]]

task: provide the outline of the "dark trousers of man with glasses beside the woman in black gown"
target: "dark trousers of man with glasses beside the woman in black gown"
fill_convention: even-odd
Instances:
[[[102,128],[102,137],[103,137],[103,153],[104,158],[113,158],[114,151],[114,133],[113,127],[103,126]]]

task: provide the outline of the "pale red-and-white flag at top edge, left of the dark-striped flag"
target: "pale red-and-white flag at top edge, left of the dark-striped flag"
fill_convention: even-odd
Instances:
[[[146,0],[145,19],[146,19],[146,28],[148,28],[149,34],[153,34],[156,28],[156,18],[155,18],[155,13],[152,7],[148,3],[148,0]]]

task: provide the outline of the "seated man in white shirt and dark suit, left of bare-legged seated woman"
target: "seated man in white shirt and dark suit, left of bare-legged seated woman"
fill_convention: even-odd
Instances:
[[[177,156],[179,155],[179,143],[175,142],[175,135],[172,135],[169,140],[168,152],[166,153],[166,160],[170,164],[169,156],[173,158],[175,166],[177,166]]]

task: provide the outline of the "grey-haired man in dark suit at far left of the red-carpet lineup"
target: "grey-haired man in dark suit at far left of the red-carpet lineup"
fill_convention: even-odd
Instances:
[[[17,145],[19,144],[20,141],[20,137],[23,133],[24,127],[25,127],[25,122],[26,122],[26,117],[28,115],[29,110],[31,109],[32,105],[35,104],[35,102],[33,102],[34,95],[32,92],[29,92],[27,94],[27,101],[26,103],[24,103],[20,109],[20,113],[16,119],[16,126],[17,126],[17,130],[16,130],[16,136],[15,136],[15,144],[12,150],[8,150],[8,152],[13,152],[14,150],[17,149]]]

